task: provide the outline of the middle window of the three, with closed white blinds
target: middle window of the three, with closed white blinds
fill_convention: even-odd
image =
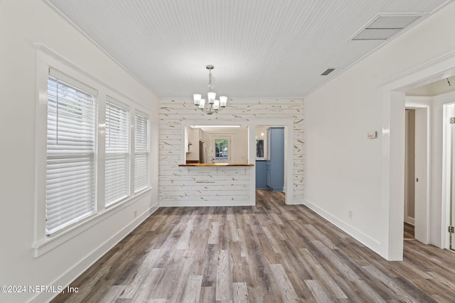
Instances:
[[[129,112],[110,97],[106,101],[105,204],[129,195]]]

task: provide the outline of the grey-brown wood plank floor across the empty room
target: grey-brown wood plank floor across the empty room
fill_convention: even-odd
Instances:
[[[455,302],[455,253],[387,262],[306,206],[161,208],[53,302]]]

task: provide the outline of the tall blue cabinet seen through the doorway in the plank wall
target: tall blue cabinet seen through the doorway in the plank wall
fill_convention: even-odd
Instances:
[[[282,192],[284,187],[284,127],[267,128],[267,188]]]

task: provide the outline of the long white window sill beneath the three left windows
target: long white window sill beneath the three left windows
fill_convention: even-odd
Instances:
[[[116,204],[110,204],[103,211],[90,216],[90,218],[87,218],[84,221],[81,221],[80,224],[77,224],[55,234],[55,236],[50,236],[38,240],[31,246],[31,248],[35,252],[34,253],[35,258],[38,258],[41,255],[44,255],[45,253],[48,253],[50,250],[53,250],[54,248],[65,243],[66,241],[69,241],[70,239],[74,238],[83,231],[86,231],[88,228],[91,228],[92,226],[99,224],[100,222],[109,218],[109,216],[112,216],[116,214],[118,211],[121,211],[122,209],[125,209],[127,206],[130,206],[134,202],[137,202],[137,200],[144,197],[144,195],[149,194],[152,188],[153,187],[147,187],[146,189],[141,190],[141,192],[135,194],[134,197],[125,199],[124,201]]]

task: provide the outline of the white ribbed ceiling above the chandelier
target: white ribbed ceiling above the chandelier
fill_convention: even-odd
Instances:
[[[305,97],[385,43],[350,40],[378,13],[432,13],[449,2],[47,1],[162,98],[205,94],[208,64],[218,95]],[[321,76],[327,68],[336,70]]]

